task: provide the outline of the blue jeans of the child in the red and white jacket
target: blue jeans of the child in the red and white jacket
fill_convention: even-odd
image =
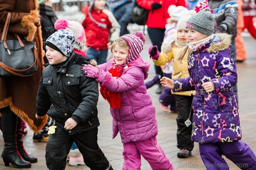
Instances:
[[[90,47],[86,52],[86,57],[90,58],[91,60],[94,59],[95,61],[97,61],[98,65],[107,62],[107,56],[108,56],[108,49],[96,50]]]

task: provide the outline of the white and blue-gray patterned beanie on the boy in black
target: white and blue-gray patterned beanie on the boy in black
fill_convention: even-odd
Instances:
[[[46,45],[59,51],[64,56],[70,57],[75,46],[75,34],[70,30],[57,30],[47,38]]]

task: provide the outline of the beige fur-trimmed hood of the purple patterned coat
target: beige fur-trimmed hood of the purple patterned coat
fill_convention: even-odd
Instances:
[[[229,48],[231,45],[232,36],[227,33],[216,33],[210,43],[207,43],[205,47],[208,48],[207,52],[209,53],[217,53],[218,51],[223,51]],[[189,49],[189,55],[191,55],[193,51]]]

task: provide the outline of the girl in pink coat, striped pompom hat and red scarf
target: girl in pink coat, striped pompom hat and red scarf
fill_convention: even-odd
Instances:
[[[98,68],[88,64],[82,70],[86,77],[96,78],[102,97],[110,104],[113,138],[120,132],[124,145],[122,169],[140,170],[142,155],[153,170],[173,170],[156,140],[155,107],[144,84],[150,64],[139,55],[144,43],[142,32],[126,34],[113,43],[113,58],[107,63]]]

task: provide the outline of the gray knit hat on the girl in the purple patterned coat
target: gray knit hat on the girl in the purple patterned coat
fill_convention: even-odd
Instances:
[[[186,22],[186,28],[210,36],[214,31],[213,15],[211,11],[206,8],[194,14]]]

